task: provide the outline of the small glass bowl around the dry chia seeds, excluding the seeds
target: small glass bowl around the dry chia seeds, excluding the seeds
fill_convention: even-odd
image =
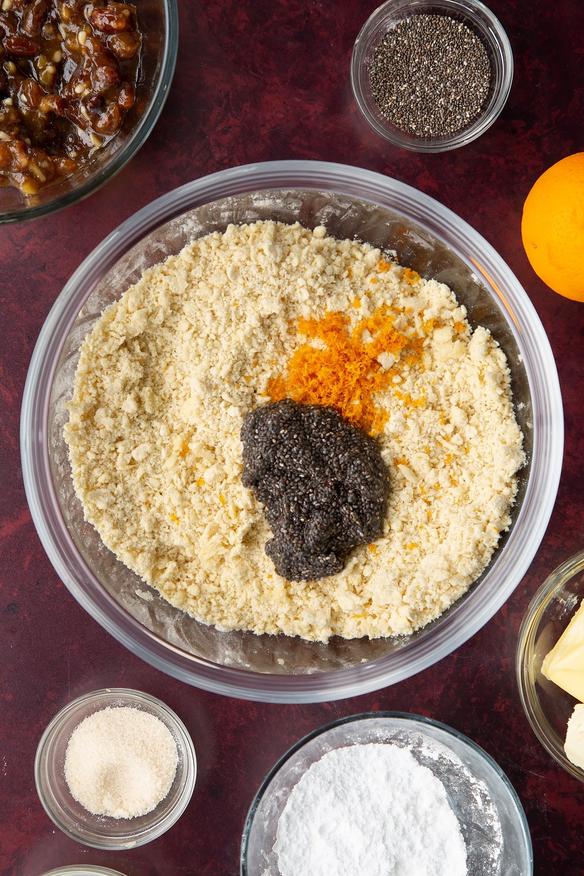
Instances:
[[[403,7],[414,12],[417,6],[434,5],[437,11],[446,12],[448,10],[458,12],[461,15],[482,18],[487,25],[487,33],[483,34],[484,38],[489,42],[491,51],[500,53],[503,73],[496,78],[498,86],[498,94],[495,102],[486,112],[480,112],[475,120],[468,127],[461,131],[454,131],[452,134],[447,134],[438,138],[418,138],[408,133],[407,131],[400,132],[399,129],[388,124],[383,124],[371,111],[367,101],[365,100],[362,89],[362,74],[363,74],[363,53],[369,46],[369,34],[372,30],[383,22],[388,13],[391,13],[396,7]],[[404,18],[409,16],[405,14]],[[505,32],[503,25],[496,18],[496,15],[483,4],[481,0],[386,0],[381,6],[374,10],[364,25],[359,31],[353,46],[350,62],[350,79],[351,89],[355,98],[355,103],[359,108],[362,117],[369,126],[379,134],[380,137],[387,140],[389,143],[401,146],[411,152],[448,152],[451,149],[458,149],[460,146],[468,145],[473,140],[479,138],[487,131],[496,119],[501,115],[503,107],[509,97],[511,84],[513,81],[513,52],[511,50],[509,37]]]

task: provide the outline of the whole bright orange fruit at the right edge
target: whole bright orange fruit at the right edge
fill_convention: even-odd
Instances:
[[[541,174],[524,203],[521,237],[538,277],[584,301],[584,152]]]

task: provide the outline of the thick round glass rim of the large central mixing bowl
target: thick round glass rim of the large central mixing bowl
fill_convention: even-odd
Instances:
[[[418,223],[447,244],[481,275],[508,321],[524,360],[533,406],[531,474],[523,505],[509,540],[471,597],[426,638],[366,664],[312,675],[264,674],[215,664],[182,651],[139,624],[103,590],[74,547],[55,495],[48,454],[48,409],[56,363],[83,302],[103,274],[131,245],[187,210],[233,194],[285,188],[356,196]],[[75,599],[118,641],[152,666],[202,689],[260,702],[313,703],[368,693],[414,675],[454,651],[498,611],[523,578],[544,536],[558,490],[563,434],[550,343],[531,300],[493,247],[439,201],[403,182],[348,165],[290,160],[233,167],[186,183],[138,210],[89,254],[64,286],[40,331],[26,378],[20,447],[26,497],[49,560]]]

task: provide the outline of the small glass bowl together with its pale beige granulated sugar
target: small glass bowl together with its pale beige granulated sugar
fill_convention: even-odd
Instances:
[[[110,788],[115,797],[112,809],[102,788],[102,776],[110,773],[111,765],[103,765],[100,773],[100,764],[95,763],[92,772],[83,761],[99,759],[98,752],[107,747],[107,734],[116,728],[126,743],[119,756],[128,762],[123,764],[120,777],[125,784]],[[157,761],[154,775],[140,759],[132,761],[132,746],[137,757],[144,753],[140,738],[144,732],[148,733],[151,756]],[[86,752],[88,757],[84,758]],[[166,774],[159,772],[161,762],[166,763]],[[193,795],[196,772],[193,741],[179,717],[155,697],[123,688],[95,690],[60,710],[40,739],[34,763],[40,802],[53,823],[79,843],[109,850],[150,843],[172,827]],[[92,775],[100,776],[101,790],[92,787]],[[152,783],[163,788],[159,802]],[[137,809],[131,805],[134,792],[140,800]],[[127,802],[123,802],[124,795]],[[151,809],[149,800],[154,804]],[[82,802],[95,812],[116,811],[116,815],[95,814]],[[134,815],[134,811],[144,814]]]

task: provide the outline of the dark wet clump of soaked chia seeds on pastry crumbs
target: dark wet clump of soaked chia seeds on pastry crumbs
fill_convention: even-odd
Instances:
[[[243,420],[242,482],[264,505],[265,552],[289,581],[335,575],[383,534],[389,477],[379,445],[332,407],[292,399]]]

